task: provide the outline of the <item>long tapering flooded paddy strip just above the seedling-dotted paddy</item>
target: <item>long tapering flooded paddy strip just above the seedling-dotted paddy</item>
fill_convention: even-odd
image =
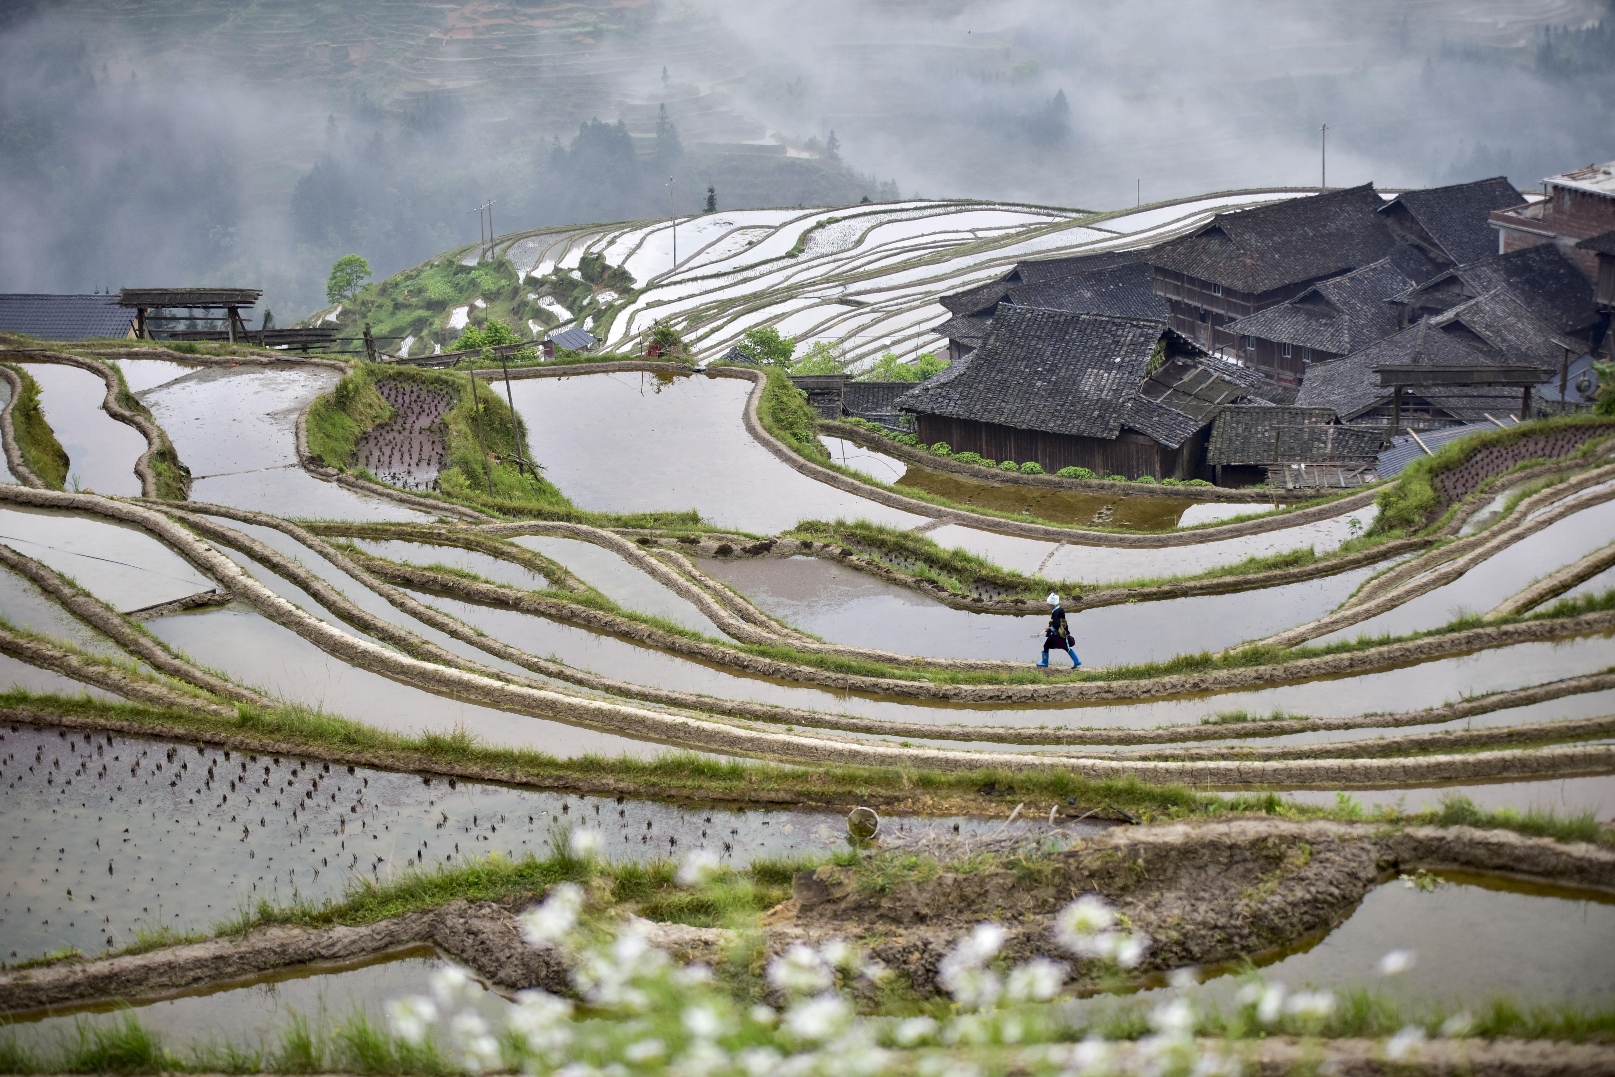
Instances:
[[[192,660],[223,670],[242,685],[380,730],[447,733],[464,728],[488,744],[533,748],[562,759],[588,754],[648,757],[667,751],[661,744],[434,696],[333,659],[289,628],[239,604],[165,617],[152,622],[150,630]]]

